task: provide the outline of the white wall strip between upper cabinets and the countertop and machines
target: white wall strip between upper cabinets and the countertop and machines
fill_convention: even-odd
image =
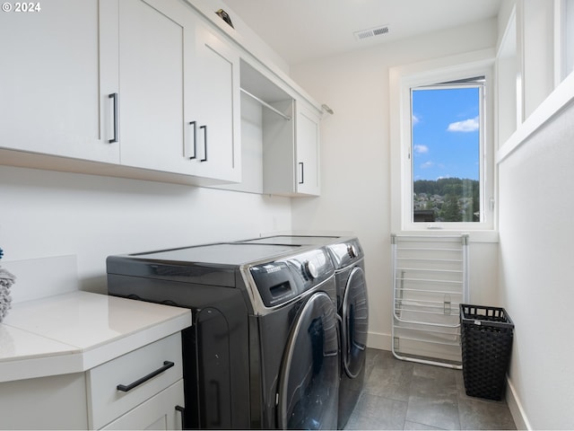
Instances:
[[[75,255],[81,288],[99,293],[110,254],[291,229],[289,198],[74,173],[0,166],[0,199],[5,268]]]

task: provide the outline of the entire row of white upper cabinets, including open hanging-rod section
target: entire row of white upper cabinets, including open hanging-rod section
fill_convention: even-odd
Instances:
[[[319,194],[320,108],[220,27],[211,6],[50,0],[38,7],[0,14],[1,164]],[[261,127],[249,123],[247,136],[242,97],[264,107]]]

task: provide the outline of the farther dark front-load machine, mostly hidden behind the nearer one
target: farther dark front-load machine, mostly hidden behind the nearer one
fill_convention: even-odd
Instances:
[[[337,313],[341,321],[341,385],[338,424],[343,429],[352,414],[365,374],[369,303],[364,274],[364,252],[352,236],[276,235],[247,243],[315,245],[326,247],[335,266]]]

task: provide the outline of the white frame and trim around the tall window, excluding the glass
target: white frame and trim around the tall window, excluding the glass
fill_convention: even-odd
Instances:
[[[487,49],[390,69],[391,228],[394,233],[421,233],[437,230],[461,233],[495,230],[496,165],[493,136],[494,81],[492,79],[494,57],[492,50]],[[414,222],[411,89],[474,76],[484,76],[481,118],[483,142],[480,154],[481,221]]]

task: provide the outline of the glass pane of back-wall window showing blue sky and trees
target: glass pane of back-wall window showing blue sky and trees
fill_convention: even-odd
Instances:
[[[484,76],[411,88],[413,223],[480,222]]]

